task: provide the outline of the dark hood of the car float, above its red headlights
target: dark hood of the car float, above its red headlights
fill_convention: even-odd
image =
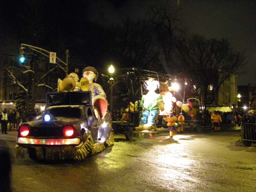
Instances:
[[[79,121],[81,121],[81,119],[56,117],[48,122],[45,122],[42,119],[38,119],[38,120],[26,122],[26,124],[29,124],[32,127],[34,127],[34,126],[35,127],[38,127],[38,126],[64,126],[64,125],[73,125]]]

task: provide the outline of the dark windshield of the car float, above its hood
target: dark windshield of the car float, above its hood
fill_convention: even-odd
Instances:
[[[55,117],[80,118],[81,109],[74,107],[56,107],[50,109],[50,114],[52,114]]]

